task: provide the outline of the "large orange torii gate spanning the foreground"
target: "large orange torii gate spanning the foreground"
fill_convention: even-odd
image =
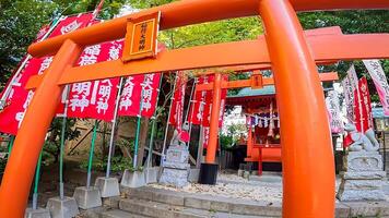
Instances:
[[[34,57],[55,53],[56,56],[35,92],[16,136],[0,187],[0,215],[11,218],[24,216],[35,165],[46,131],[55,116],[63,84],[168,70],[271,63],[279,94],[280,117],[283,120],[282,143],[285,145],[283,147],[283,216],[333,217],[334,166],[331,138],[323,94],[314,62],[314,59],[320,61],[322,53],[310,53],[314,47],[310,46],[309,49],[295,11],[388,7],[387,0],[186,0],[144,10],[32,45],[28,51]],[[122,38],[126,35],[128,19],[157,11],[162,13],[162,29],[260,14],[267,33],[266,40],[165,51],[155,60],[128,63],[108,61],[72,68],[83,47]],[[334,53],[333,59],[338,60],[347,59],[341,57],[349,53],[344,49],[357,52],[350,45],[356,46],[362,43],[369,50],[372,46],[387,45],[387,35],[344,36],[343,38],[326,36],[318,41],[323,50],[331,50]],[[344,45],[347,47],[344,48]],[[243,53],[247,56],[241,56]],[[364,57],[366,56],[362,55],[359,58]],[[369,58],[388,57],[389,53],[386,51]],[[219,77],[221,76],[217,75],[221,74],[215,76],[214,96],[220,94]],[[305,113],[304,121],[299,120],[299,113]],[[215,124],[217,117],[219,114],[212,111],[211,131],[217,130]],[[216,128],[212,128],[213,125]],[[313,128],[316,131],[311,132]]]

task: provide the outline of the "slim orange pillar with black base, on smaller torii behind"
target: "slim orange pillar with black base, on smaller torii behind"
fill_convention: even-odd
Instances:
[[[219,117],[222,98],[222,74],[215,73],[210,121],[210,138],[207,147],[205,162],[201,164],[199,183],[215,184],[217,178],[216,149],[219,141]],[[201,146],[201,145],[200,145]]]

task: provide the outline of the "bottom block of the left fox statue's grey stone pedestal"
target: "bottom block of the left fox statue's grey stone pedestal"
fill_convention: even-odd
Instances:
[[[174,185],[176,187],[184,187],[189,184],[188,174],[188,170],[164,168],[160,183]]]

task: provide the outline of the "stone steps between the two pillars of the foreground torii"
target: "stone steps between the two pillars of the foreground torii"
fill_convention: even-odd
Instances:
[[[123,189],[123,196],[109,198],[104,209],[90,218],[254,218],[281,217],[280,205],[264,205],[251,201],[231,199],[203,194],[140,187]]]

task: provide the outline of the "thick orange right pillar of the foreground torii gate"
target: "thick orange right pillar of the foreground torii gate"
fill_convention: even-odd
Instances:
[[[283,217],[333,217],[334,161],[316,64],[290,1],[261,0],[259,11],[281,119]]]

